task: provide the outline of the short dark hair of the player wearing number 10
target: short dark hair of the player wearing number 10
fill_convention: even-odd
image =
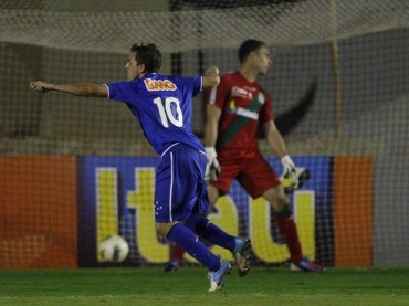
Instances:
[[[135,60],[140,65],[145,65],[146,72],[158,72],[161,66],[161,53],[154,43],[147,45],[133,44],[130,52],[135,52]]]

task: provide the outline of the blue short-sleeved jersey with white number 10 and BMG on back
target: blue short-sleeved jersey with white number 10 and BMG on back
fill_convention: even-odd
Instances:
[[[192,97],[200,93],[201,85],[201,76],[157,73],[148,73],[143,78],[129,82],[106,84],[108,98],[126,103],[159,155],[175,143],[204,150],[191,130]]]

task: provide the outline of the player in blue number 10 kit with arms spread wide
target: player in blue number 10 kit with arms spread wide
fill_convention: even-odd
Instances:
[[[197,236],[232,252],[241,275],[249,271],[250,241],[231,236],[211,223],[204,169],[206,150],[191,130],[192,97],[219,84],[219,70],[202,76],[158,74],[161,53],[155,44],[134,44],[125,65],[127,81],[111,84],[31,82],[34,92],[56,91],[126,103],[144,134],[161,156],[155,187],[155,226],[209,268],[209,292],[221,289],[230,273],[228,261],[216,256]]]

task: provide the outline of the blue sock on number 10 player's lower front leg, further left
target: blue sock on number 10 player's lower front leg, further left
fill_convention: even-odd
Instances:
[[[211,253],[187,226],[175,224],[167,238],[177,245],[180,245],[190,256],[207,266],[210,271],[218,271],[220,268],[220,258]]]

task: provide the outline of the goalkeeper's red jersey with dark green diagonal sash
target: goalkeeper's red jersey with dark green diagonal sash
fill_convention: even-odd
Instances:
[[[221,109],[216,149],[228,151],[258,150],[258,126],[273,119],[272,101],[258,83],[239,72],[227,73],[220,84],[208,92],[207,103]]]

